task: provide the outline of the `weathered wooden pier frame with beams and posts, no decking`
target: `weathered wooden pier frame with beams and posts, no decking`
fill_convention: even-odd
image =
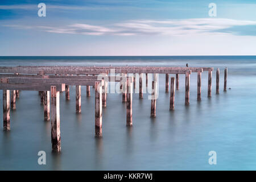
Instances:
[[[116,75],[111,75],[114,70]],[[224,91],[226,91],[227,71],[224,75]],[[107,106],[109,82],[119,82],[122,102],[126,102],[126,126],[133,126],[133,93],[139,82],[139,98],[143,99],[143,78],[148,86],[148,74],[152,79],[150,117],[156,117],[156,100],[158,97],[158,75],[166,75],[166,89],[170,86],[170,110],[175,108],[175,83],[179,90],[179,75],[185,75],[185,105],[189,105],[190,75],[197,73],[197,100],[201,100],[201,73],[208,72],[208,97],[212,96],[213,68],[183,67],[59,67],[59,66],[18,66],[0,67],[0,89],[3,90],[3,129],[10,126],[10,109],[16,109],[16,98],[20,90],[38,91],[44,106],[44,120],[51,120],[52,150],[61,151],[60,137],[60,92],[65,91],[65,100],[69,101],[69,86],[76,86],[76,113],[82,112],[81,86],[86,86],[86,96],[90,97],[90,86],[95,89],[95,136],[102,137],[102,107]],[[143,75],[146,75],[143,77]],[[169,79],[169,75],[175,77]],[[220,69],[216,72],[216,94],[219,94]],[[171,80],[170,84],[169,81]],[[18,109],[18,108],[17,108]]]

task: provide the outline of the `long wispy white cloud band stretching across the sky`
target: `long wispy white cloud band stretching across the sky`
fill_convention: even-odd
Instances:
[[[234,20],[221,18],[175,19],[175,20],[130,20],[108,26],[96,26],[92,24],[69,24],[63,27],[54,26],[29,26],[29,25],[5,25],[14,28],[38,29],[57,34],[81,34],[81,35],[243,35],[236,30],[226,31],[237,26],[256,25],[256,21]]]

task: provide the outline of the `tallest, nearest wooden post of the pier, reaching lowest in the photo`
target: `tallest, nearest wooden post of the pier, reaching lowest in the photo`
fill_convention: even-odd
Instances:
[[[60,92],[51,86],[51,137],[52,151],[60,152]]]

